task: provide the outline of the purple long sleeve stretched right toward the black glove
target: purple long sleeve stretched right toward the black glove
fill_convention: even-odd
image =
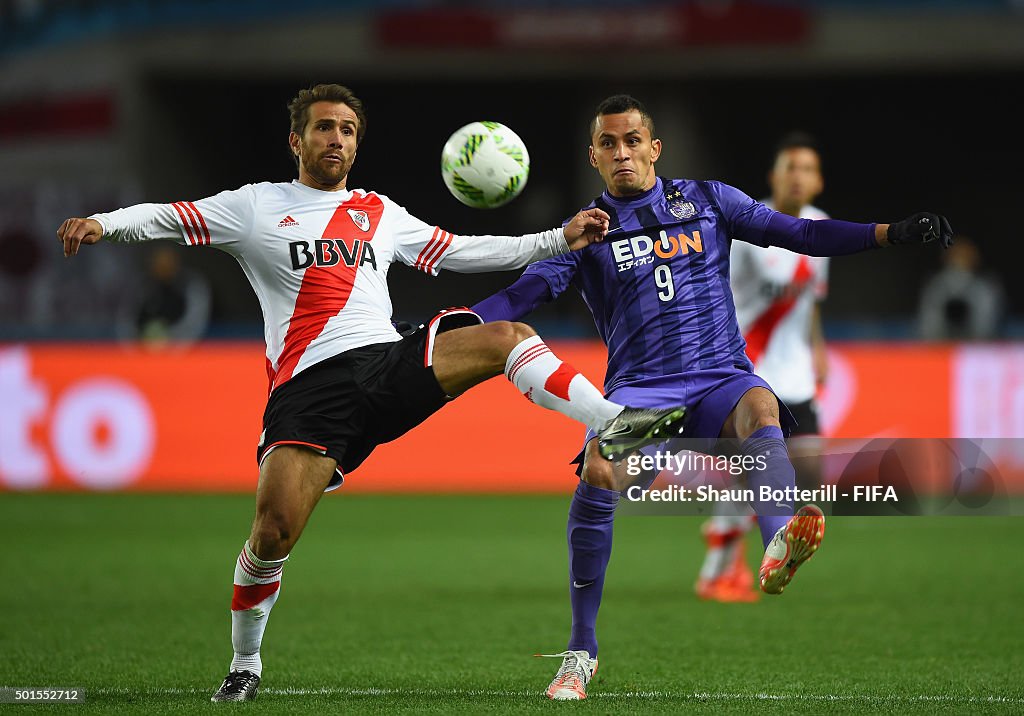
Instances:
[[[731,238],[756,246],[780,246],[808,256],[843,256],[879,248],[873,223],[798,219],[773,211],[734,186],[709,181]]]

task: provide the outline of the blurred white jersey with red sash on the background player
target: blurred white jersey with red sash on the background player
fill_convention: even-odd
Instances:
[[[828,215],[807,206],[800,217]],[[754,372],[783,401],[810,401],[816,390],[811,314],[828,290],[828,259],[734,241],[729,262],[736,319]]]

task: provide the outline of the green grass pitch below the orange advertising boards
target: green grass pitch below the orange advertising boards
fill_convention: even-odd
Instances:
[[[214,705],[250,496],[0,495],[0,685],[88,698],[0,711],[1024,713],[1019,517],[831,518],[756,605],[693,596],[698,518],[621,517],[591,698],[551,703],[558,661],[531,655],[568,633],[567,503],[329,496],[259,700]]]

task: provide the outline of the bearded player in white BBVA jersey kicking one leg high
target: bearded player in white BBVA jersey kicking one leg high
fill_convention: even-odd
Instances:
[[[564,228],[522,237],[455,236],[383,195],[348,188],[367,128],[350,90],[317,85],[289,110],[297,180],[70,218],[57,230],[66,256],[103,238],[215,246],[239,261],[263,309],[269,397],[256,514],[234,566],[234,656],[213,701],[255,698],[285,560],[324,492],[452,397],[504,371],[534,403],[616,440],[678,434],[684,416],[604,399],[523,324],[484,326],[457,309],[406,337],[391,325],[391,262],[430,275],[514,268],[600,241],[604,211],[581,211]],[[196,430],[204,429],[197,415]]]

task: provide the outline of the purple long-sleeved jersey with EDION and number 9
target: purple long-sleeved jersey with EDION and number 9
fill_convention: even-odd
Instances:
[[[811,256],[878,248],[874,224],[795,218],[719,181],[657,178],[643,194],[604,193],[592,207],[611,217],[602,243],[530,264],[473,309],[488,322],[519,321],[574,286],[608,347],[605,393],[643,389],[650,407],[695,407],[756,378],[729,286],[732,240]],[[709,434],[718,434],[721,412]]]

